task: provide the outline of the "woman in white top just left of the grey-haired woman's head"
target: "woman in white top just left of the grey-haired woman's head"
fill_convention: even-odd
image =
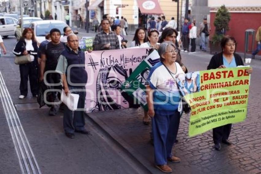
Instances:
[[[145,42],[140,45],[140,48],[153,48],[153,49],[158,49],[159,48],[159,43],[158,43],[158,35],[159,32],[156,29],[150,29],[148,32],[148,42]]]

